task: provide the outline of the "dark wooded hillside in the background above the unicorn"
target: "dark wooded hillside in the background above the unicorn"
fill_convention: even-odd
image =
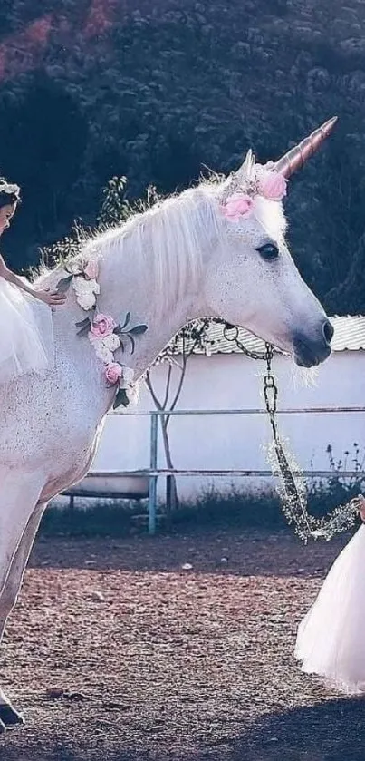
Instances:
[[[362,0],[92,7],[1,6],[0,170],[24,188],[6,238],[13,265],[34,264],[74,218],[93,225],[110,177],[128,176],[131,200],[150,183],[180,190],[205,165],[234,169],[250,146],[261,161],[275,158],[338,113],[335,137],[293,180],[290,242],[331,312],[363,310]],[[50,32],[15,60],[16,34],[47,14]]]

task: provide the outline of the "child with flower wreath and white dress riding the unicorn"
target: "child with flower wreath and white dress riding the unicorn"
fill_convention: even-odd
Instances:
[[[0,180],[0,236],[9,227],[19,200],[18,186]],[[50,364],[50,352],[34,317],[33,298],[49,307],[65,300],[56,291],[32,288],[6,266],[0,254],[0,384],[24,373],[42,373]],[[46,318],[51,321],[51,309]]]

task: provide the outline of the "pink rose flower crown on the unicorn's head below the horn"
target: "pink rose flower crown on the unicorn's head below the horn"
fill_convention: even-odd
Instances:
[[[242,169],[229,184],[221,209],[226,220],[238,222],[254,210],[255,198],[281,201],[286,196],[287,181],[274,170],[274,163],[256,164],[252,151],[248,151]],[[236,188],[236,190],[235,190]],[[232,192],[234,190],[234,192]]]

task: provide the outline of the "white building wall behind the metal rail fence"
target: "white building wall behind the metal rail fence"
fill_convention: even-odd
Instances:
[[[245,356],[192,356],[179,398],[178,409],[236,409],[264,407],[264,363]],[[166,366],[152,370],[153,383],[163,395]],[[283,356],[274,357],[279,407],[365,405],[365,352],[337,352],[305,385],[302,372]],[[308,375],[306,376],[308,378]],[[178,375],[176,374],[175,380]],[[92,470],[135,470],[149,466],[149,417],[138,415],[154,409],[149,391],[142,388],[135,415],[109,415]],[[328,468],[326,447],[341,458],[354,442],[365,444],[365,413],[282,415],[281,433],[303,470]],[[184,415],[170,422],[170,442],[176,468],[245,468],[267,470],[264,445],[270,442],[266,415]],[[165,467],[159,435],[158,465]],[[349,463],[351,467],[351,463]],[[186,498],[215,483],[223,490],[232,483],[250,488],[246,479],[184,477],[179,493]],[[257,485],[257,484],[256,484]],[[163,483],[159,493],[163,494]]]

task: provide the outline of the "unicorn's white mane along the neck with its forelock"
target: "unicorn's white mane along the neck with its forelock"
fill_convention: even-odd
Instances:
[[[145,279],[146,272],[152,278],[156,303],[161,305],[163,298],[168,307],[167,296],[173,302],[187,283],[190,288],[197,283],[204,251],[225,244],[226,220],[219,206],[229,181],[202,181],[197,188],[158,202],[118,227],[96,233],[85,240],[76,259],[97,252],[101,259],[118,259],[121,272],[132,262],[138,278]],[[286,221],[281,204],[257,198],[255,219],[272,239],[283,239]],[[251,223],[255,224],[254,220]]]

